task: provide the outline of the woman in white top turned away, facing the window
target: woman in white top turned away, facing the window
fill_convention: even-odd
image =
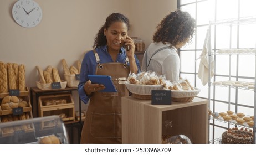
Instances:
[[[165,75],[166,80],[177,81],[180,74],[177,49],[191,40],[195,27],[195,20],[181,10],[163,18],[157,25],[153,43],[145,51],[141,71],[155,71],[157,75]]]

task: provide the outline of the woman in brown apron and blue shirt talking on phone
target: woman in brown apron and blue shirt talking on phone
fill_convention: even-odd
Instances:
[[[135,45],[127,36],[129,20],[112,13],[96,35],[94,50],[86,53],[80,71],[78,92],[81,100],[90,104],[86,112],[81,143],[121,143],[121,97],[129,96],[124,84],[129,73],[137,74],[139,60]],[[123,46],[129,47],[125,49]],[[109,75],[117,92],[101,92],[105,87],[91,84],[87,75]]]

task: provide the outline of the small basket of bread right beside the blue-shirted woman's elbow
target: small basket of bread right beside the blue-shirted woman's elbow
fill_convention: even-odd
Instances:
[[[80,69],[81,69],[81,62],[78,60],[76,61],[76,66],[74,65],[68,66],[65,59],[62,59],[62,67],[64,71],[64,79],[68,82],[68,87],[78,87],[79,79],[78,76],[80,75]]]

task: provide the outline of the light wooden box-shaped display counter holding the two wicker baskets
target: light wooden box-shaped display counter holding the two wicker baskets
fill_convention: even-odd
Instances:
[[[172,127],[165,127],[165,121]],[[161,143],[162,135],[185,135],[192,143],[208,143],[208,100],[152,105],[151,100],[122,97],[122,143]]]

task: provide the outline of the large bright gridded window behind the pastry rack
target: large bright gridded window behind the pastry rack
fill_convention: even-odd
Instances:
[[[208,84],[202,85],[197,77],[202,53],[204,39],[209,27],[209,22],[218,20],[256,16],[255,0],[178,0],[178,8],[187,11],[196,19],[196,33],[192,43],[187,44],[179,50],[181,59],[181,77],[186,77],[194,86],[201,89],[199,97],[208,99]],[[256,46],[256,24],[236,26],[216,26],[211,29],[211,45],[213,52],[219,49],[255,49]],[[232,29],[232,30],[231,30]],[[253,34],[253,35],[249,35]],[[232,36],[232,37],[230,37]],[[224,81],[229,78],[229,60],[232,68],[231,80],[254,82],[255,79],[255,57],[252,55],[214,55],[214,68],[216,70],[212,81]],[[228,110],[228,103],[231,103],[230,110],[243,112],[246,115],[253,115],[254,92],[248,90],[231,89],[228,87],[211,86],[211,110],[213,112],[224,112]],[[221,137],[222,132],[232,125],[211,120],[210,141]]]

